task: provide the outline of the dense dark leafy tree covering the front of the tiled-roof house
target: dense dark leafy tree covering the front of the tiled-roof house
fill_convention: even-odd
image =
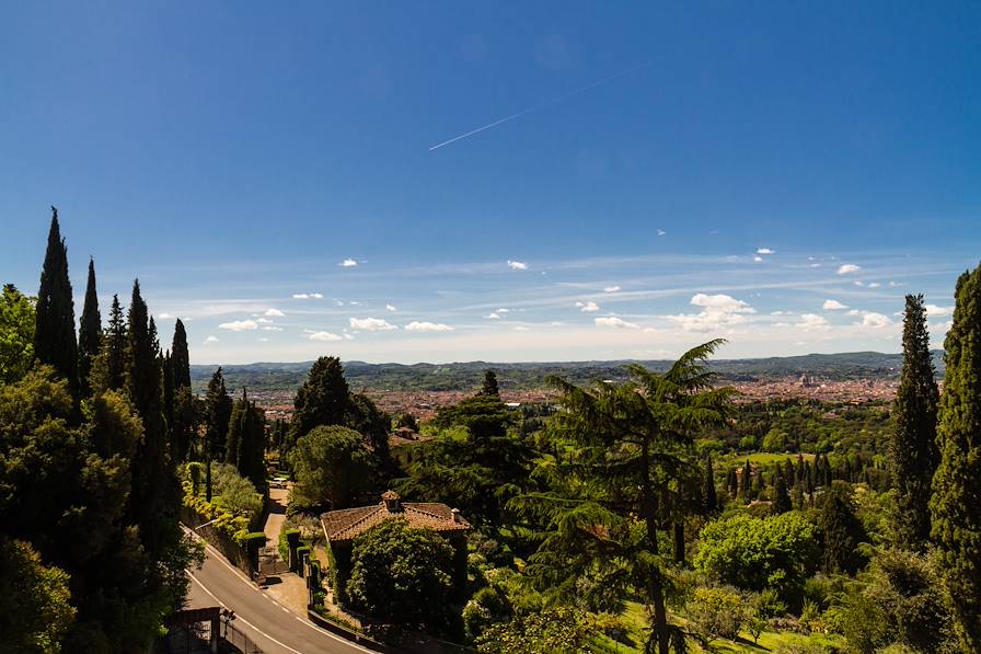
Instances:
[[[385,520],[351,550],[351,605],[396,624],[443,627],[452,589],[453,548],[431,529]]]

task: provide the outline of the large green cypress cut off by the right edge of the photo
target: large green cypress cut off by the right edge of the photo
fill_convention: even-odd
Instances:
[[[931,537],[943,558],[956,629],[966,652],[981,651],[981,266],[957,280],[954,324],[944,342],[938,411],[940,464],[933,478]]]

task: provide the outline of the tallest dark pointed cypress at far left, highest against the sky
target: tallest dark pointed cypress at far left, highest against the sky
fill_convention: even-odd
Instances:
[[[74,333],[74,301],[68,279],[68,249],[58,225],[58,209],[51,207],[48,248],[41,272],[35,307],[34,353],[68,380],[72,395],[79,397],[79,354]]]

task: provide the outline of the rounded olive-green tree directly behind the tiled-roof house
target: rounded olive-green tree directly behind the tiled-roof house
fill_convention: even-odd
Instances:
[[[347,427],[314,427],[289,452],[299,506],[347,508],[372,472],[371,451],[360,434]]]

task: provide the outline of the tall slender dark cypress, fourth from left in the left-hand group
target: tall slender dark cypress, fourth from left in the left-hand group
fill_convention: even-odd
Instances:
[[[143,422],[143,440],[132,460],[129,514],[140,529],[140,541],[158,555],[166,543],[176,510],[176,478],[170,464],[161,393],[160,345],[157,325],[149,317],[134,282],[129,303],[126,349],[126,391]]]

